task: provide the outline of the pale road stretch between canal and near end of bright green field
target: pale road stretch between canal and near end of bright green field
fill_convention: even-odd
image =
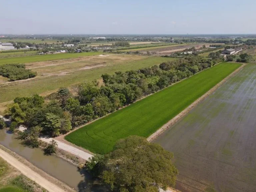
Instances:
[[[47,143],[50,143],[51,140],[54,140],[54,141],[57,142],[58,148],[60,148],[62,150],[65,150],[65,151],[68,151],[69,153],[72,153],[72,154],[74,154],[74,155],[76,155],[76,156],[78,156],[78,157],[80,157],[80,158],[82,158],[82,159],[84,159],[86,161],[88,161],[89,158],[93,156],[90,153],[84,152],[84,151],[82,151],[80,149],[77,149],[77,148],[75,148],[73,146],[70,146],[70,145],[68,145],[66,143],[63,143],[63,142],[58,141],[58,140],[53,139],[53,138],[40,138],[40,139],[42,141],[47,142]]]

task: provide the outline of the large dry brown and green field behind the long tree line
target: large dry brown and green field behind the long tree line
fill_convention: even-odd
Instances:
[[[77,62],[69,60],[67,63],[58,61],[26,64],[33,71],[38,71],[38,76],[27,81],[15,81],[10,84],[6,82],[3,84],[4,79],[2,79],[0,103],[10,101],[18,96],[25,97],[36,93],[47,95],[60,87],[70,87],[79,82],[100,79],[104,73],[137,70],[173,60],[173,58],[122,54],[111,54],[108,57],[90,56],[85,59]]]

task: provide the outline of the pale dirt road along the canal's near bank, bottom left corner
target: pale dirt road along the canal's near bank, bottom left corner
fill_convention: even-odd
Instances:
[[[23,163],[19,162],[16,158],[11,156],[10,154],[6,153],[2,149],[0,149],[0,156],[11,164],[13,167],[18,169],[23,175],[35,181],[38,185],[42,186],[49,192],[65,192],[63,189],[59,188],[55,184],[51,183],[50,181],[46,180],[44,177],[39,175],[38,173],[31,170],[29,167],[24,165]]]

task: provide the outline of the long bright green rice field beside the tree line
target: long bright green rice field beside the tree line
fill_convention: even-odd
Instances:
[[[118,139],[129,135],[148,137],[240,66],[220,63],[86,125],[65,139],[91,152],[105,154]]]

